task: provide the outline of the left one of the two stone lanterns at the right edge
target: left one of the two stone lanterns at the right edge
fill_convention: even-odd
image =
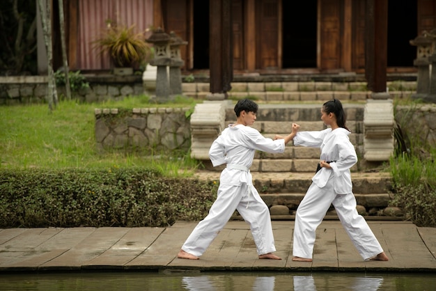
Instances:
[[[429,57],[433,52],[432,39],[429,33],[424,31],[421,36],[416,36],[414,40],[410,40],[410,45],[416,46],[416,58],[413,64],[418,67],[416,94],[412,94],[412,98],[422,99],[428,94],[430,88]]]

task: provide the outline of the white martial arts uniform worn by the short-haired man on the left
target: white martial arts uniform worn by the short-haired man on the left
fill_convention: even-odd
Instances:
[[[209,150],[212,165],[227,166],[219,178],[217,200],[205,219],[192,230],[182,246],[183,251],[202,255],[235,210],[249,223],[258,255],[276,251],[270,210],[254,188],[249,171],[256,150],[283,152],[285,142],[284,139],[267,139],[249,126],[229,125],[212,143]]]

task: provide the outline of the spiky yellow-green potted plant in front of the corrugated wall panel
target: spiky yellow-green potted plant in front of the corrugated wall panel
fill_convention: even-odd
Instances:
[[[146,42],[145,33],[134,31],[134,25],[125,26],[108,23],[106,31],[93,41],[99,54],[109,54],[118,74],[133,73],[133,69],[143,66],[153,57],[153,49]],[[128,70],[126,70],[128,68]]]

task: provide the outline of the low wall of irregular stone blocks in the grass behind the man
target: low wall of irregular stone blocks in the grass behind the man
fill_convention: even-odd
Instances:
[[[98,150],[153,152],[191,147],[190,108],[95,109]]]

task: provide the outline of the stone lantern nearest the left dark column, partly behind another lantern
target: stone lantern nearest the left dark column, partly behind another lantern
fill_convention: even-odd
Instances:
[[[182,40],[180,37],[171,31],[170,36],[170,54],[171,64],[169,67],[169,91],[172,95],[182,95],[182,74],[180,68],[185,64],[181,58],[180,45],[187,45],[187,41]]]

